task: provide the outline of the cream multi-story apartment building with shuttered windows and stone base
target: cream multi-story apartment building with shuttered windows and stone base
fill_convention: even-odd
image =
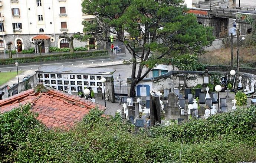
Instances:
[[[69,47],[59,39],[63,32],[83,33],[82,21],[94,17],[82,13],[82,0],[0,0],[0,51],[12,42],[12,50],[20,52],[35,47],[34,39],[43,40],[42,52],[49,47]],[[74,47],[96,44],[74,40]]]

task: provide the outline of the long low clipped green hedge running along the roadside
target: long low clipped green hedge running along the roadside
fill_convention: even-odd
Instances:
[[[101,56],[107,56],[107,55],[108,55],[108,51],[102,50],[102,51],[76,52],[76,53],[65,53],[65,54],[56,54],[56,55],[24,57],[24,58],[8,58],[8,59],[1,59],[0,65],[9,65],[9,64],[14,64],[15,62],[19,62],[19,63],[46,62],[46,61],[57,61],[57,60],[67,60],[67,59],[76,59],[76,58],[101,57]]]

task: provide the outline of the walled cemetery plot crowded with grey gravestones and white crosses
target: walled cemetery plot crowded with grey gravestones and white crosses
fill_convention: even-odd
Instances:
[[[127,83],[129,89],[129,79]],[[119,113],[137,127],[207,119],[217,113],[232,112],[237,106],[255,105],[255,85],[256,75],[234,70],[173,70],[144,78],[136,86],[137,97],[128,97]]]

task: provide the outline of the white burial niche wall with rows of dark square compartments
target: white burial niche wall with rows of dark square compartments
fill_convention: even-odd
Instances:
[[[94,93],[104,93],[102,77],[111,76],[112,68],[42,67],[36,71],[37,78],[44,86],[59,91],[83,92],[88,88]]]

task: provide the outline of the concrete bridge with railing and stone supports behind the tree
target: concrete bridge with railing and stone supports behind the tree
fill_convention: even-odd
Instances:
[[[236,19],[239,35],[249,34],[252,31],[253,15],[256,14],[256,10],[197,5],[197,8],[190,9],[188,13],[196,14],[199,24],[213,27],[213,35],[220,38],[228,34],[229,18]]]

